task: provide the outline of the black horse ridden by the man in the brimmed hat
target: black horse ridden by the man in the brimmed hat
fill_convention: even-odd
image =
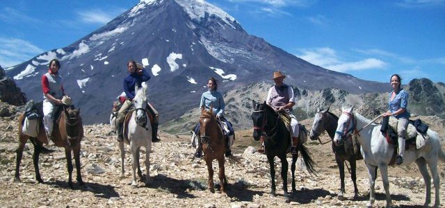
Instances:
[[[289,152],[291,146],[291,134],[287,130],[286,125],[280,119],[279,114],[273,110],[272,107],[264,103],[257,103],[252,101],[253,112],[252,120],[254,125],[253,137],[255,140],[259,140],[262,132],[266,133],[264,139],[265,153],[270,166],[270,177],[272,180],[272,188],[270,191],[271,196],[275,196],[275,166],[273,160],[276,157],[280,158],[282,163],[281,176],[283,179],[283,191],[284,198],[289,200],[289,193],[287,192],[287,169],[289,164],[286,160],[286,153]],[[305,146],[298,144],[297,149],[300,151],[302,158],[305,162],[306,168],[309,173],[315,173],[314,161],[312,160],[309,152]],[[295,185],[295,169],[298,154],[292,155],[292,192],[296,193]]]

